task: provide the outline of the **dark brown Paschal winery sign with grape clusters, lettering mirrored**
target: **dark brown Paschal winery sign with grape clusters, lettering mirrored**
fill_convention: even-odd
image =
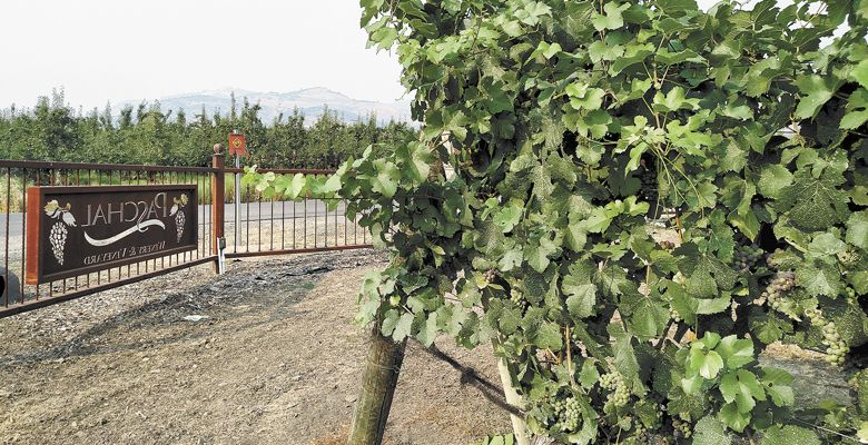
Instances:
[[[197,219],[195,185],[30,187],[27,283],[195,250]]]

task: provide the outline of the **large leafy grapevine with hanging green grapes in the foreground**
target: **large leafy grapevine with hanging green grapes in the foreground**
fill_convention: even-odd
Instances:
[[[249,177],[364,214],[393,261],[361,323],[496,340],[529,425],[564,443],[818,444],[805,422],[868,439],[865,403],[795,407],[757,360],[797,344],[866,387],[868,2],[362,7],[422,141],[326,181]]]

